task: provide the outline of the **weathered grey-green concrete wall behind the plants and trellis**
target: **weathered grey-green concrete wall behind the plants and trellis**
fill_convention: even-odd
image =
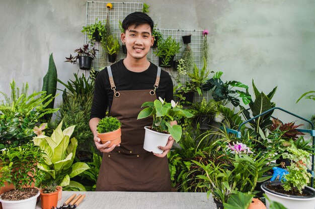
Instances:
[[[121,2],[121,1],[113,1]],[[141,2],[141,1],[125,1]],[[208,29],[211,70],[223,80],[239,80],[268,93],[278,86],[273,101],[297,115],[310,118],[314,101],[303,99],[315,90],[315,1],[313,0],[146,0],[149,15],[165,29]],[[40,90],[53,53],[58,78],[77,72],[64,63],[83,44],[86,1],[0,1],[0,91],[10,93],[10,82],[28,82]],[[61,96],[57,101],[60,101]],[[0,99],[3,97],[0,96]],[[283,121],[296,120],[277,112]]]

